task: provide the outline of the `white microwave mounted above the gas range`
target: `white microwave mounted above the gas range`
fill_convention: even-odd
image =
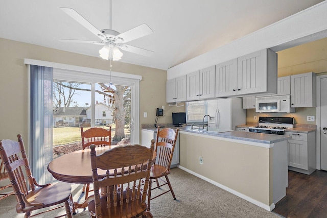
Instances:
[[[291,108],[290,95],[276,95],[255,98],[255,112],[290,113],[295,112],[295,108]]]

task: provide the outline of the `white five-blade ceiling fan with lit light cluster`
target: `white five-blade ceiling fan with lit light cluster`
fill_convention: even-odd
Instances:
[[[77,43],[89,43],[95,45],[103,45],[102,49],[99,50],[100,57],[106,60],[120,60],[123,53],[120,51],[131,52],[143,56],[151,56],[153,51],[141,49],[132,45],[125,44],[126,42],[132,41],[137,38],[147,36],[153,31],[151,28],[143,23],[135,28],[132,28],[124,33],[119,33],[111,29],[111,0],[110,0],[110,23],[109,29],[98,30],[88,20],[86,20],[81,14],[72,8],[60,8],[67,15],[71,16],[83,27],[89,30],[91,33],[99,37],[101,41],[87,41],[87,40],[75,40],[75,39],[57,39],[61,42],[77,42]]]

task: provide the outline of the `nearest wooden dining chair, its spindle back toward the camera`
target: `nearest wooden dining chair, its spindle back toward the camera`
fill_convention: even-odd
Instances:
[[[126,145],[110,149],[99,156],[96,155],[94,145],[90,148],[95,189],[95,199],[88,204],[90,216],[152,217],[146,211],[146,198],[150,168],[154,161],[154,140],[150,148],[139,144]],[[99,169],[106,172],[104,178],[98,175]],[[100,196],[99,188],[103,196]]]

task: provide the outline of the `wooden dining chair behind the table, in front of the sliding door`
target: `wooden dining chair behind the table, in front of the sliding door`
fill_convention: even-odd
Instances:
[[[81,137],[83,150],[91,144],[95,144],[96,146],[111,146],[111,126],[109,126],[109,130],[93,127],[85,131],[81,127]],[[90,191],[93,191],[93,189],[90,190],[90,184],[84,184],[82,192],[85,193],[85,200],[88,198]]]

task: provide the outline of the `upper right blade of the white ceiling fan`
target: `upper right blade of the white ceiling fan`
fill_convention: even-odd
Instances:
[[[141,38],[143,36],[147,36],[151,33],[153,33],[151,28],[148,25],[146,25],[145,23],[143,23],[142,25],[139,25],[133,29],[130,29],[124,33],[117,35],[116,39],[119,42],[125,43],[125,42],[132,41],[134,39],[137,39],[137,38]]]

